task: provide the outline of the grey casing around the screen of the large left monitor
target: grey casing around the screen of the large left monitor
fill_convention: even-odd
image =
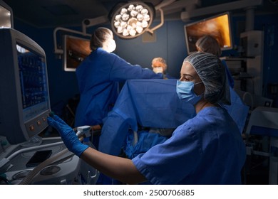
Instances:
[[[31,137],[40,134],[46,129],[46,127],[48,127],[46,119],[51,112],[51,105],[46,65],[46,90],[48,92],[48,99],[46,102],[47,109],[38,112],[38,114],[31,119],[24,121],[16,45],[19,44],[22,47],[31,50],[33,53],[40,55],[44,58],[45,63],[46,54],[40,45],[24,35],[24,33],[16,31],[13,28],[1,28],[0,31],[0,41],[2,43],[0,53],[2,56],[6,57],[6,59],[0,60],[1,66],[5,66],[0,69],[0,90],[1,93],[5,94],[3,97],[1,96],[0,99],[0,135],[5,136],[7,141],[9,141],[9,144],[20,144],[24,141],[28,141]],[[4,82],[6,82],[6,85],[4,85]],[[38,122],[40,124],[38,124]],[[32,129],[32,127],[35,127],[35,129]]]

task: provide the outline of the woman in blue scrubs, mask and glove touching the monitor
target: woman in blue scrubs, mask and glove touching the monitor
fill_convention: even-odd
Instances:
[[[48,117],[70,151],[102,173],[136,184],[241,184],[245,146],[222,104],[229,87],[221,60],[211,53],[185,58],[177,80],[177,95],[192,103],[197,115],[177,127],[163,144],[133,159],[103,154],[81,143],[59,117]]]

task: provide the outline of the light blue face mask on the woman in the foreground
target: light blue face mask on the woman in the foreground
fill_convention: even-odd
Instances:
[[[202,95],[196,95],[194,92],[194,85],[202,82],[185,82],[177,80],[176,92],[177,96],[185,102],[195,105],[201,99]]]

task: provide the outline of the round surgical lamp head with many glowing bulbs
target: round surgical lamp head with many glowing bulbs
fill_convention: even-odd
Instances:
[[[154,9],[140,1],[120,3],[110,14],[113,32],[120,38],[135,38],[148,30]]]

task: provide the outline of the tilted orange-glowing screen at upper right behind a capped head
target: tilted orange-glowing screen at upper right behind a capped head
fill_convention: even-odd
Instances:
[[[188,54],[197,51],[195,43],[198,38],[205,35],[210,35],[216,38],[221,46],[221,50],[230,50],[233,47],[229,12],[195,21],[193,23],[188,23],[184,28]]]

